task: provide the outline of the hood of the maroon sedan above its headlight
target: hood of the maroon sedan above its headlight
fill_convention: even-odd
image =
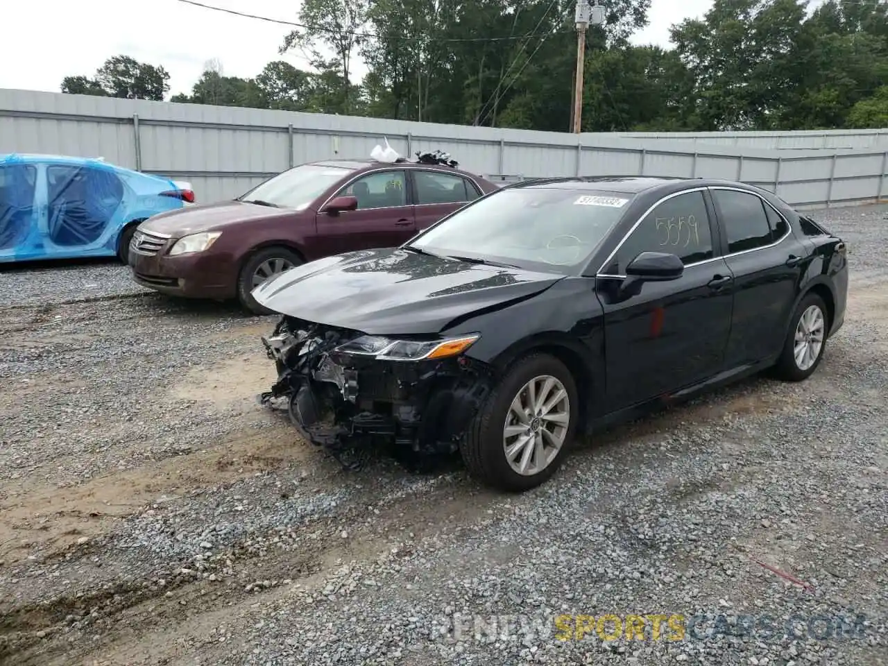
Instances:
[[[179,238],[187,234],[219,229],[250,219],[292,218],[295,212],[291,209],[270,208],[255,203],[219,202],[207,206],[169,210],[152,216],[139,228],[149,233],[156,231],[159,234]]]

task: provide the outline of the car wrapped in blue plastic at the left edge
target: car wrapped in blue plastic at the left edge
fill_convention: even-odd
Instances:
[[[100,159],[0,155],[0,263],[119,257],[139,222],[194,202],[187,183]]]

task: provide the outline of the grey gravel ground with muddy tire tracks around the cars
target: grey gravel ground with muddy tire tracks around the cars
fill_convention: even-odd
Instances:
[[[0,662],[888,663],[888,207],[813,217],[852,262],[813,377],[614,428],[523,496],[341,472],[255,403],[273,319],[0,273]]]

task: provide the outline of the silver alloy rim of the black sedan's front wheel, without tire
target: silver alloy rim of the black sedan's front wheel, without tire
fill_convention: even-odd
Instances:
[[[534,377],[511,401],[503,425],[503,449],[511,469],[534,476],[558,456],[570,425],[567,389],[556,377]]]

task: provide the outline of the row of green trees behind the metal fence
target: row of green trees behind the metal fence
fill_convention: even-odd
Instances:
[[[672,27],[673,49],[632,46],[650,0],[608,0],[584,54],[584,131],[873,127],[884,124],[888,3],[715,0]],[[572,0],[305,0],[312,71],[276,60],[256,78],[210,61],[173,100],[566,131]],[[369,73],[350,81],[360,53]],[[157,98],[162,68],[123,56],[62,90]],[[165,84],[165,83],[164,83]],[[165,91],[165,88],[163,89]],[[162,93],[161,93],[162,94]]]

